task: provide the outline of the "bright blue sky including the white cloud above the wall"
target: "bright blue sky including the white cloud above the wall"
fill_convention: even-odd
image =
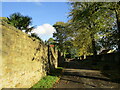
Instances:
[[[41,39],[48,40],[53,36],[56,22],[67,22],[70,5],[66,2],[2,2],[2,16],[19,12],[32,18],[32,25],[36,28],[32,31]]]

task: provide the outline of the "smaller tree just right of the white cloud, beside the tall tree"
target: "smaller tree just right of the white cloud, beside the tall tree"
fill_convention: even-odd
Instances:
[[[64,57],[68,54],[70,55],[70,57],[74,57],[77,50],[76,47],[73,46],[73,42],[69,32],[69,24],[64,22],[56,22],[53,27],[55,27],[56,29],[53,37],[55,38],[59,51],[62,52]]]

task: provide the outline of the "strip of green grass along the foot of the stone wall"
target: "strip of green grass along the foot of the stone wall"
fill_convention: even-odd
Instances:
[[[58,67],[54,72],[42,78],[38,83],[36,83],[32,89],[34,88],[52,88],[53,85],[60,79],[60,75],[62,73],[62,67]]]

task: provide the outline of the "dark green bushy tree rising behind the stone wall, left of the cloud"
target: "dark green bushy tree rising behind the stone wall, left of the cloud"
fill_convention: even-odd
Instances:
[[[8,24],[13,25],[17,29],[25,30],[26,33],[31,32],[34,28],[29,27],[32,24],[32,18],[28,16],[23,16],[20,13],[13,13],[8,18]]]

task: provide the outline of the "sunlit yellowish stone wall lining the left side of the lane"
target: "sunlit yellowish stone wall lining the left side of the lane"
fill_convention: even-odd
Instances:
[[[1,88],[30,88],[49,72],[48,47],[16,28],[2,23]],[[57,67],[57,51],[50,63]]]

